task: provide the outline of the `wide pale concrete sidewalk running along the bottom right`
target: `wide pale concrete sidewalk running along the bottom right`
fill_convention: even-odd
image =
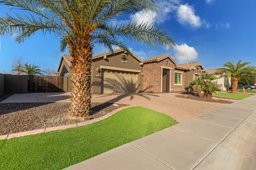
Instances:
[[[256,169],[256,95],[66,169]]]

